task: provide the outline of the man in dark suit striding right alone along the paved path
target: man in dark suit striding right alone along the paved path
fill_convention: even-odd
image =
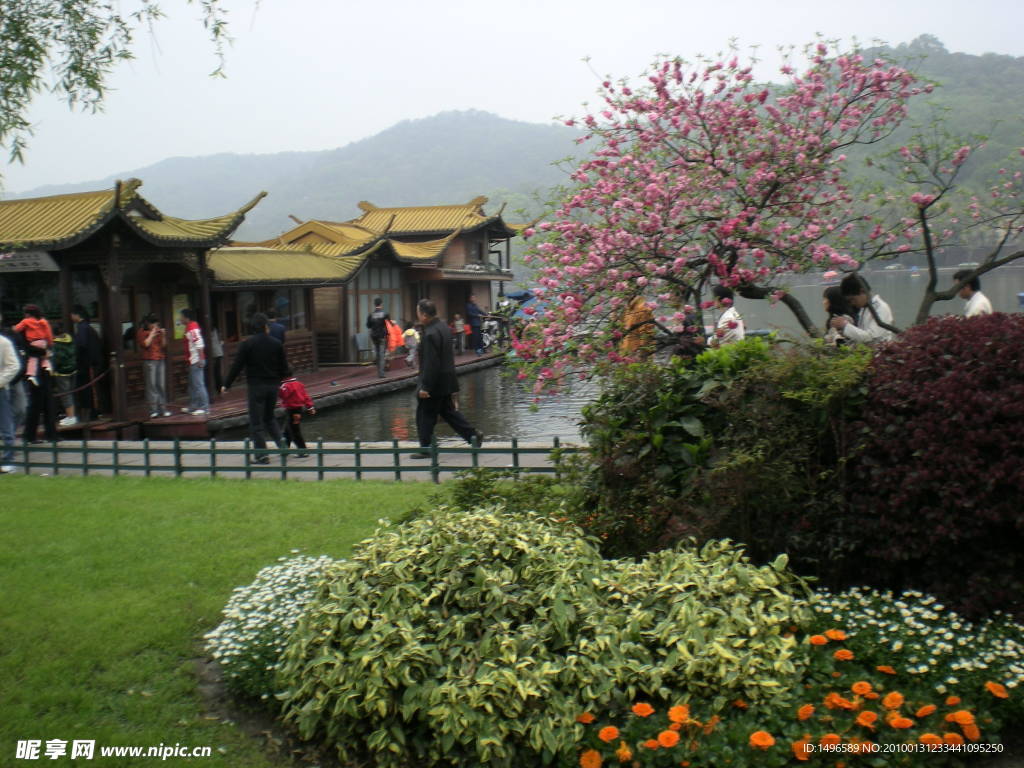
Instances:
[[[417,387],[416,431],[420,447],[430,447],[437,417],[446,421],[471,445],[483,442],[483,434],[466,421],[456,404],[459,380],[455,373],[455,352],[452,349],[452,332],[437,319],[437,307],[430,299],[420,299],[416,315],[423,325],[420,335],[420,381]],[[430,454],[420,452],[411,459],[429,459]]]

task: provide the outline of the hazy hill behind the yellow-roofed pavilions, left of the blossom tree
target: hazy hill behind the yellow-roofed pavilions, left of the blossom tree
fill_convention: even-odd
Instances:
[[[18,197],[55,195],[112,186],[117,178],[142,179],[142,195],[172,216],[219,215],[269,195],[246,217],[240,240],[262,239],[290,228],[288,218],[334,221],[359,215],[356,204],[382,206],[465,203],[490,199],[487,211],[507,203],[506,217],[536,210],[565,180],[553,163],[577,150],[580,134],[558,125],[506,120],[484,112],[445,112],[408,120],[375,136],[337,150],[272,155],[212,155],[171,158],[105,179],[46,186]],[[286,141],[283,138],[283,141]]]

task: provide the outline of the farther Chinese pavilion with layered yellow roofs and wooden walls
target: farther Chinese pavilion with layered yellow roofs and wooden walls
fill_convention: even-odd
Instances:
[[[214,315],[229,336],[244,333],[257,310],[301,315],[315,339],[314,361],[334,364],[356,360],[366,349],[364,324],[375,297],[402,324],[415,321],[421,298],[432,299],[444,318],[464,313],[471,294],[494,307],[492,286],[501,292],[512,278],[509,244],[517,232],[501,211],[485,213],[486,202],[402,208],[364,202],[358,218],[301,221],[272,240],[213,251]]]

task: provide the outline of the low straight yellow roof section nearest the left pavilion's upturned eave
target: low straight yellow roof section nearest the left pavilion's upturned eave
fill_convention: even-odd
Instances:
[[[306,250],[227,246],[207,256],[217,285],[267,285],[345,283],[362,265],[368,254],[336,258]]]

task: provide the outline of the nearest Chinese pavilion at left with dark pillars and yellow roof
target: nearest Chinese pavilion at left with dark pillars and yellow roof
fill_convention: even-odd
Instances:
[[[113,189],[0,201],[0,310],[16,322],[23,305],[38,304],[70,328],[72,307],[84,306],[108,355],[103,386],[118,420],[130,400],[142,399],[132,329],[150,312],[171,329],[185,307],[211,327],[207,254],[228,242],[264,196],[216,218],[181,219],[158,210],[139,186],[129,179]],[[172,398],[187,390],[182,331],[174,327],[168,348]]]

